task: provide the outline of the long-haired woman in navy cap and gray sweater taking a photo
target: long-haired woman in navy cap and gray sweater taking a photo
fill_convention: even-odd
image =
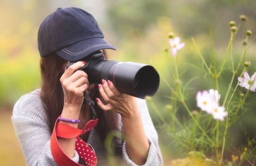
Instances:
[[[116,165],[162,165],[158,135],[145,100],[122,94],[109,80],[90,84],[86,72],[77,70],[81,61],[95,51],[115,49],[103,40],[94,17],[79,8],[58,8],[41,24],[38,47],[42,87],[23,95],[13,109],[12,123],[28,166],[57,166],[50,148],[50,137],[59,115],[81,123],[59,123],[82,129],[91,120],[89,105],[83,103],[84,91],[98,108],[98,124],[81,139],[90,144],[98,166],[106,165],[104,141],[111,130],[122,131],[125,140],[114,139]],[[80,61],[78,61],[80,60]],[[66,69],[68,61],[78,61]],[[68,131],[67,131],[68,132]],[[62,151],[72,161],[84,164],[75,149],[76,139],[58,137]],[[136,146],[134,146],[136,145]]]

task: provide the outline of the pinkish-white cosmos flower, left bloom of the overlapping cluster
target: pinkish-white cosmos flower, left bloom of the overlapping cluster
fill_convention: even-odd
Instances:
[[[207,113],[212,112],[212,108],[218,106],[218,103],[215,101],[214,96],[209,94],[208,91],[198,91],[197,92],[197,106],[201,108],[202,111]]]

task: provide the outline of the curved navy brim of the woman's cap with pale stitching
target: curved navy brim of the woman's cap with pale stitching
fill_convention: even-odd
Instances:
[[[59,49],[56,53],[65,60],[77,61],[102,49],[116,50],[116,48],[111,46],[103,38],[89,38]]]

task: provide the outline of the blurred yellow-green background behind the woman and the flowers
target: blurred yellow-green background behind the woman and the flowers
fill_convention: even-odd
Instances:
[[[193,89],[188,94],[190,98],[187,103],[191,109],[197,109],[195,94],[198,90],[213,88],[211,78],[204,78],[202,72],[187,64],[202,64],[191,37],[194,37],[209,63],[209,26],[213,29],[217,61],[222,60],[229,41],[229,21],[239,22],[240,14],[246,14],[249,19],[234,41],[235,60],[241,55],[244,32],[250,29],[252,36],[256,32],[256,0],[0,0],[0,166],[26,165],[10,117],[15,101],[22,94],[40,88],[37,31],[43,19],[58,7],[80,7],[94,15],[106,41],[117,48],[117,51],[108,51],[111,60],[151,64],[151,57],[151,65],[170,84],[173,84],[173,80],[170,79],[164,51],[169,47],[167,34],[172,31],[180,36],[182,42],[186,43],[185,48],[177,55],[182,82],[186,83],[195,76],[200,77],[190,84]],[[249,68],[251,75],[256,71],[255,42],[246,56],[252,64]],[[219,82],[222,95],[225,94],[231,78],[229,63],[225,69]],[[170,96],[170,91],[161,80],[153,101],[167,118],[169,114],[164,106],[170,100],[164,97],[166,95]],[[234,142],[229,142],[233,145],[227,151],[226,158],[230,157],[229,153],[235,153],[234,147],[238,148],[238,145],[246,142],[245,129],[249,137],[255,137],[255,100],[256,94],[251,94],[247,100],[249,111],[232,128],[230,135],[233,135]],[[148,108],[158,130],[165,165],[168,165],[171,159],[180,156],[172,149],[170,139],[161,130],[158,116],[151,106],[148,105]],[[186,114],[182,109],[180,106],[181,116]]]

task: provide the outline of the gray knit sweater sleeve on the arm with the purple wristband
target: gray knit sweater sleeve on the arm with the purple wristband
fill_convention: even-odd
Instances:
[[[14,105],[11,120],[27,166],[58,166],[50,149],[47,113],[38,95],[22,96]],[[76,150],[72,160],[79,162]]]

